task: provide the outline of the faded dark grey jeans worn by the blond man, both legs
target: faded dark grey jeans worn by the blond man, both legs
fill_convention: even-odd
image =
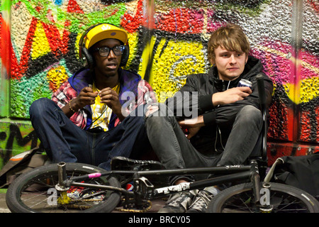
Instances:
[[[235,118],[223,153],[212,150],[209,157],[191,145],[167,106],[160,104],[159,111],[148,116],[145,125],[150,144],[166,169],[240,165],[256,149],[262,114],[254,106],[244,106]]]

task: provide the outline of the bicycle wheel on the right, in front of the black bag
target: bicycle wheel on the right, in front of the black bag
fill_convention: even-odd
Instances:
[[[264,194],[262,194],[263,196]],[[318,213],[319,202],[307,192],[286,184],[271,183],[269,209],[252,202],[252,183],[238,184],[217,194],[208,213]]]

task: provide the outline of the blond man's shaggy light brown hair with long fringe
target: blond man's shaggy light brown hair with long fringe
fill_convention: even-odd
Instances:
[[[228,24],[218,28],[211,34],[208,41],[208,60],[215,61],[215,49],[223,47],[229,51],[245,52],[246,56],[250,52],[250,43],[242,28],[235,24]]]

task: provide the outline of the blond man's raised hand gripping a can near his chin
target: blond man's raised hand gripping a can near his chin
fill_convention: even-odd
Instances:
[[[233,87],[225,92],[213,94],[212,101],[214,106],[233,104],[235,101],[245,99],[250,94],[252,94],[250,87]]]

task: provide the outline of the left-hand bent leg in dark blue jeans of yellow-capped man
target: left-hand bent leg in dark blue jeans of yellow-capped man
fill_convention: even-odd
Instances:
[[[91,162],[86,132],[72,123],[54,101],[34,101],[30,120],[52,162]]]

